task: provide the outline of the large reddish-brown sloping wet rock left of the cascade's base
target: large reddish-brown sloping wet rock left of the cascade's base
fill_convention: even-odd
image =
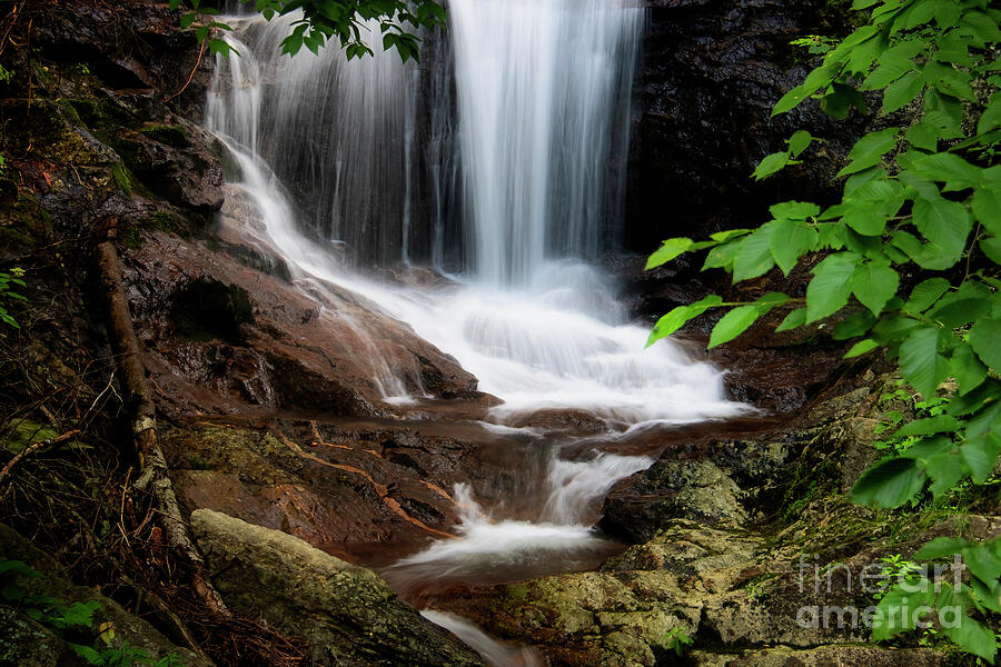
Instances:
[[[147,367],[178,414],[374,415],[390,409],[383,395],[393,376],[416,395],[480,396],[454,358],[344,288],[306,293],[208,243],[160,231],[143,240],[125,255],[129,301]]]

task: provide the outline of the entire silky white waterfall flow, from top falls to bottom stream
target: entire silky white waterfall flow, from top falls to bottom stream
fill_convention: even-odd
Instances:
[[[671,341],[644,349],[647,329],[626,321],[594,265],[621,229],[643,10],[620,0],[450,0],[448,10],[423,66],[395,52],[347,62],[336,47],[288,58],[278,44],[291,18],[228,19],[239,57],[218,60],[206,118],[232,158],[224,220],[245,242],[288,263],[321,321],[349,290],[454,356],[503,400],[485,432],[531,452],[534,462],[514,465],[534,506],[457,485],[456,538],[383,570],[404,595],[585,569],[612,552],[592,527],[596,508],[654,459],[518,428],[533,414],[585,412],[605,425],[595,441],[607,446],[744,410],[712,366]],[[408,261],[449,280],[402,287],[366,271]],[[419,372],[387,362],[353,326],[388,409],[433,404]],[[494,664],[532,661],[463,619],[425,616]]]

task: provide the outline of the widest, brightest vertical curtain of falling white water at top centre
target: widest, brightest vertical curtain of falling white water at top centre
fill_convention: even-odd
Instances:
[[[448,7],[475,275],[524,286],[547,258],[595,258],[608,248],[612,150],[624,143],[643,11],[608,0]]]

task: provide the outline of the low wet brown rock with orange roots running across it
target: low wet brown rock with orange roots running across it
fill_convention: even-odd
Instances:
[[[353,559],[373,559],[365,545],[388,554],[390,541],[444,537],[458,520],[454,485],[498,467],[470,441],[403,427],[202,424],[165,427],[160,439],[186,510],[222,511]],[[385,554],[374,559],[387,563]]]

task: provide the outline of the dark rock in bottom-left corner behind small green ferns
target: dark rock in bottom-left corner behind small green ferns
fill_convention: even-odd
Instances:
[[[87,644],[96,640],[98,635],[96,628],[102,623],[111,623],[115,628],[113,648],[121,648],[128,644],[146,650],[155,659],[175,654],[175,657],[189,667],[211,667],[211,663],[207,659],[175,646],[148,621],[129,614],[115,600],[95,593],[91,588],[75,585],[58,563],[3,524],[0,524],[0,559],[21,560],[40,573],[39,577],[26,577],[17,581],[29,595],[51,596],[67,605],[90,601],[100,605],[100,609],[93,615],[90,635],[82,630],[80,637],[76,638],[77,643]],[[86,664],[61,638],[23,614],[0,604],[0,665],[48,667]]]

